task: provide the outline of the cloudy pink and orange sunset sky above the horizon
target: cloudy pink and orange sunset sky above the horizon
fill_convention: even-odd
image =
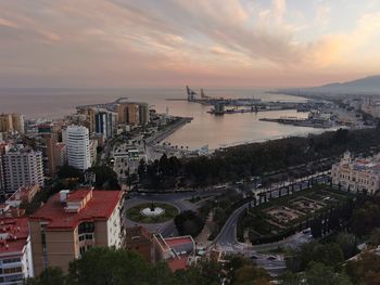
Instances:
[[[0,88],[318,86],[379,51],[379,0],[0,0]]]

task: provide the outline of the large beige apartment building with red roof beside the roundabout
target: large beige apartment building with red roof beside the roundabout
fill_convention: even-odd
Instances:
[[[59,267],[93,246],[122,246],[122,191],[61,191],[29,219],[34,272]]]

